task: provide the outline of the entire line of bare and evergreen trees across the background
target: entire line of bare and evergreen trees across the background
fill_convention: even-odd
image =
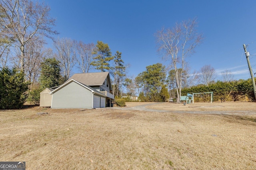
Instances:
[[[10,92],[2,93],[2,104],[5,103],[2,102],[3,98],[15,94],[12,90],[7,90],[7,86],[17,87],[14,79],[24,80],[19,86],[22,94],[20,97],[16,96],[21,103],[27,97],[29,101],[38,103],[40,91],[64,83],[75,68],[81,73],[92,69],[110,72],[114,96],[122,98],[122,87],[125,87],[126,96],[138,96],[142,102],[164,102],[169,98],[180,102],[180,96],[187,91],[214,91],[217,85],[226,87],[228,82],[235,83],[229,70],[222,72],[224,84],[215,82],[216,73],[210,65],[203,66],[199,72],[190,72],[187,57],[195,53],[194,50],[204,39],[202,33],[196,30],[196,18],[156,31],[156,45],[164,65],[156,63],[146,66],[146,70],[135,78],[126,76],[127,66],[122,60],[121,52],[116,51],[112,55],[108,44],[102,41],[94,44],[65,37],[55,39],[54,36],[59,34],[53,29],[55,25],[56,20],[50,16],[50,6],[44,3],[0,0],[0,88],[1,92]],[[52,49],[45,47],[46,38],[53,41]],[[238,89],[237,95],[244,94],[250,98],[248,84],[241,82],[243,81],[239,81],[235,87],[244,90]],[[27,85],[28,89],[23,88],[23,85]],[[12,101],[13,98],[9,97],[10,100],[6,101]]]

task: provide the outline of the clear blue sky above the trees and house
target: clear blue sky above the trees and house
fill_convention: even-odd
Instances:
[[[56,18],[58,37],[108,43],[112,55],[122,52],[128,76],[136,77],[146,66],[163,63],[154,34],[162,27],[197,18],[205,39],[188,58],[190,70],[211,65],[217,73],[230,70],[235,79],[250,73],[243,44],[248,45],[256,72],[255,0],[45,0]],[[49,43],[49,46],[51,44]],[[78,72],[78,71],[77,71]],[[75,72],[74,72],[75,73]],[[217,76],[222,80],[221,75]]]

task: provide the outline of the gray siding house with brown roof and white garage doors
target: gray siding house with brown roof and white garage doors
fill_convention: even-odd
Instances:
[[[114,95],[108,72],[74,74],[52,95],[51,108],[111,107]]]

